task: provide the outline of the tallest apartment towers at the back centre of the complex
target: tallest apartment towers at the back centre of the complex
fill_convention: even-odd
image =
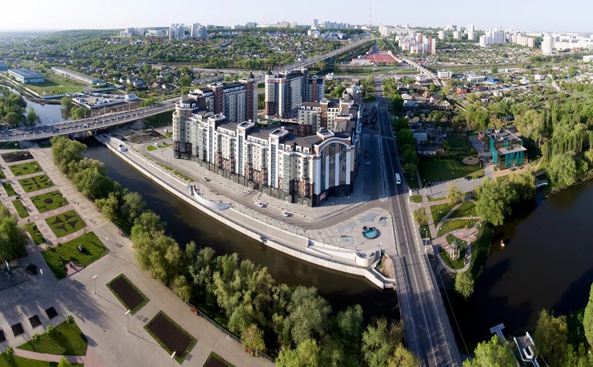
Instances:
[[[310,76],[307,69],[278,74],[268,71],[265,86],[266,117],[292,117],[301,103],[320,101],[325,97],[324,79]]]

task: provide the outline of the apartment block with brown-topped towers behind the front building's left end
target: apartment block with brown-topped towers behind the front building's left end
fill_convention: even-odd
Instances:
[[[253,74],[232,83],[216,83],[198,88],[187,95],[206,111],[222,114],[231,122],[257,118],[257,84]]]

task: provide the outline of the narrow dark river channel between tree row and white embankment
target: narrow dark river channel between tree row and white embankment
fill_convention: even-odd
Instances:
[[[212,247],[218,254],[236,252],[244,259],[266,266],[276,282],[315,286],[334,310],[361,304],[367,320],[381,315],[400,318],[393,291],[381,291],[362,277],[334,272],[273,250],[177,199],[94,139],[86,139],[84,143],[88,145],[85,157],[100,160],[107,166],[110,178],[141,193],[147,207],[167,222],[167,233],[180,244],[193,240],[198,246]]]

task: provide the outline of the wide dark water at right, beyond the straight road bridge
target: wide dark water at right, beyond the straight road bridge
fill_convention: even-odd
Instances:
[[[466,302],[449,293],[466,343],[489,339],[490,327],[500,323],[507,336],[524,334],[544,308],[568,315],[586,306],[593,282],[592,205],[593,181],[587,181],[547,199],[539,193],[495,229],[474,294]]]

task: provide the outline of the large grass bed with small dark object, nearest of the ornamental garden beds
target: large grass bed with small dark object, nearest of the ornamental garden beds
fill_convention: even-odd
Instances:
[[[84,245],[87,251],[84,254],[79,253],[76,249],[78,245]],[[62,279],[66,276],[64,265],[68,261],[80,264],[81,266],[88,266],[88,264],[101,259],[101,257],[107,254],[107,248],[99,240],[97,235],[93,232],[88,232],[72,241],[47,248],[41,254],[49,269],[52,270],[58,279]]]

